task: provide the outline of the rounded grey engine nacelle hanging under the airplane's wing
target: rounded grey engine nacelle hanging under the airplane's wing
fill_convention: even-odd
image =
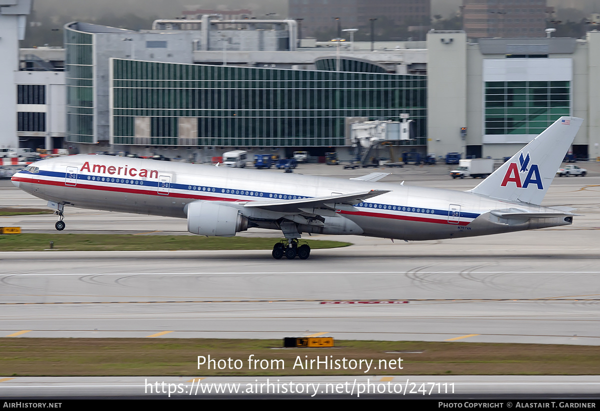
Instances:
[[[212,201],[195,201],[187,205],[188,231],[211,237],[233,237],[248,229],[248,217],[236,208]]]

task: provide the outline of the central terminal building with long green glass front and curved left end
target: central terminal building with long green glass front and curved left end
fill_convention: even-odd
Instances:
[[[211,16],[157,20],[148,32],[68,24],[67,144],[194,161],[232,148],[322,156],[337,147],[350,158],[350,122],[407,114],[416,138],[397,144],[424,150],[425,75],[407,74],[396,51],[388,67],[335,48],[295,51],[295,25]]]

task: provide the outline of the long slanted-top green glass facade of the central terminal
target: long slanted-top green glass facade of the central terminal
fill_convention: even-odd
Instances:
[[[198,146],[344,146],[347,117],[398,120],[400,113],[415,120],[418,144],[426,140],[423,75],[112,64],[113,144],[175,145],[181,125],[193,124]],[[140,129],[147,135],[136,135]]]

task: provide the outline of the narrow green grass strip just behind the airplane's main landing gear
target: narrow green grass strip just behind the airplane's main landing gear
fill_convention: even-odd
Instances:
[[[270,250],[277,238],[202,237],[200,235],[134,234],[6,234],[0,235],[0,251],[136,251],[136,250]],[[312,249],[346,247],[350,243],[301,240]]]

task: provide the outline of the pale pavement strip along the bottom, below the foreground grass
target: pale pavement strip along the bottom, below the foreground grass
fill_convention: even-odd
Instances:
[[[597,408],[600,397],[600,382],[595,376],[17,377],[5,380],[0,383],[4,401],[31,397],[32,392],[38,400],[53,398],[55,401],[82,397],[403,398],[445,400],[454,404],[446,407],[481,409]],[[216,392],[217,389],[220,392]],[[539,402],[532,405],[527,402],[531,400]],[[460,401],[460,406],[456,401]]]

